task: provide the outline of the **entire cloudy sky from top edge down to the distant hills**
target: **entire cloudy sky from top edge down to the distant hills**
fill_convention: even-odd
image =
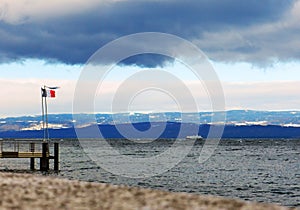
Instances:
[[[170,33],[201,49],[223,85],[227,110],[300,110],[299,20],[296,0],[1,0],[0,116],[39,114],[43,84],[61,87],[49,100],[49,112],[71,113],[90,56],[139,32]],[[211,109],[205,87],[196,85],[188,68],[174,58],[147,55],[114,68],[98,90],[96,111],[110,111],[118,85],[144,69],[178,76],[199,101],[199,111]],[[178,110],[170,95],[153,90],[137,95],[129,107]]]

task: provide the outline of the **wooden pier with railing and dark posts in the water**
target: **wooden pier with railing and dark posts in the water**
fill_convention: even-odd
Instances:
[[[8,148],[5,148],[5,145]],[[24,149],[24,147],[27,149]],[[49,160],[54,160],[54,170],[59,170],[59,144],[57,142],[54,145],[54,154],[50,154],[50,143],[48,141],[21,141],[21,140],[0,140],[0,158],[30,158],[30,169],[35,170],[35,158],[40,159],[40,170],[49,170]],[[37,149],[37,147],[39,149]],[[26,150],[26,151],[23,151]]]

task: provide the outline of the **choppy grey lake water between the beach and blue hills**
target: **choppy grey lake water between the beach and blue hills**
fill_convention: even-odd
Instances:
[[[173,142],[174,140],[157,140],[142,144],[128,140],[109,141],[114,149],[131,157],[157,155],[170,148]],[[95,144],[95,149],[97,150],[97,146],[99,151],[105,149],[105,145],[101,145]],[[163,174],[133,179],[102,169],[90,160],[77,140],[63,140],[60,141],[61,171],[57,175],[50,175],[300,206],[299,139],[224,139],[214,155],[205,163],[199,164],[202,146],[202,143],[196,142],[191,152],[178,165]],[[2,170],[16,167],[29,168],[29,160],[1,160]]]

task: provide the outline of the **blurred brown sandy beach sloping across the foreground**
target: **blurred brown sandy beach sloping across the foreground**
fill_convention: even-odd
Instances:
[[[214,196],[0,173],[0,209],[291,209]]]

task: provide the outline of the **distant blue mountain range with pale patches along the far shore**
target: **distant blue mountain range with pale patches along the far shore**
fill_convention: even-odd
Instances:
[[[115,125],[126,128],[133,123],[139,130],[147,130],[150,123],[163,126],[167,122],[161,138],[184,138],[190,133],[178,136],[180,126],[191,126],[199,129],[199,135],[206,137],[211,126],[220,126],[219,122],[211,123],[212,112],[200,113],[118,113],[118,114],[50,114],[49,133],[51,138],[76,138],[74,126],[87,130],[98,126],[105,138],[123,138]],[[75,120],[76,119],[76,120]],[[92,120],[91,120],[92,119]],[[184,122],[182,119],[185,119]],[[188,129],[189,130],[189,129]],[[192,130],[192,129],[191,129]],[[193,133],[194,134],[194,133]],[[129,134],[133,138],[134,133]],[[144,138],[150,138],[143,136]],[[42,138],[41,116],[8,117],[0,119],[0,138]],[[226,112],[223,138],[300,138],[300,111],[253,111],[234,110]]]

